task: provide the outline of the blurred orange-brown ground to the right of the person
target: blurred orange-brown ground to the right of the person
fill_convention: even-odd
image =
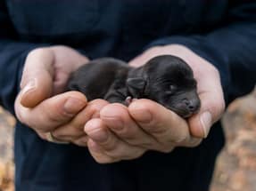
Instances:
[[[256,92],[237,99],[222,119],[226,147],[217,161],[211,191],[256,190]]]

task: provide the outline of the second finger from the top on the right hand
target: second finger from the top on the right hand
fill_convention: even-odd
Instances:
[[[153,145],[158,144],[131,118],[128,107],[119,103],[109,104],[103,107],[100,115],[103,123],[128,144],[145,148],[153,148]]]

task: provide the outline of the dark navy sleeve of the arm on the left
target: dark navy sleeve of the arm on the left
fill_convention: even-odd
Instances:
[[[0,105],[14,114],[13,105],[20,87],[24,60],[31,50],[42,44],[18,41],[4,1],[0,2],[0,26]]]

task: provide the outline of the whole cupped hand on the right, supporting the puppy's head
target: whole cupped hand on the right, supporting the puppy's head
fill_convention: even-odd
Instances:
[[[147,150],[166,153],[174,147],[195,147],[222,115],[225,103],[218,70],[186,47],[155,47],[129,64],[138,67],[162,54],[176,55],[191,66],[202,102],[200,111],[185,120],[149,99],[137,99],[129,107],[120,104],[103,107],[100,118],[88,121],[85,126],[87,146],[98,163],[134,159]]]

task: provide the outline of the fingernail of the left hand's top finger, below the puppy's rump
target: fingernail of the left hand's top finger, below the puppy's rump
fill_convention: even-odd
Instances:
[[[78,111],[80,111],[83,107],[85,107],[84,101],[76,98],[69,98],[66,100],[63,108],[67,114],[74,115],[77,114]]]

